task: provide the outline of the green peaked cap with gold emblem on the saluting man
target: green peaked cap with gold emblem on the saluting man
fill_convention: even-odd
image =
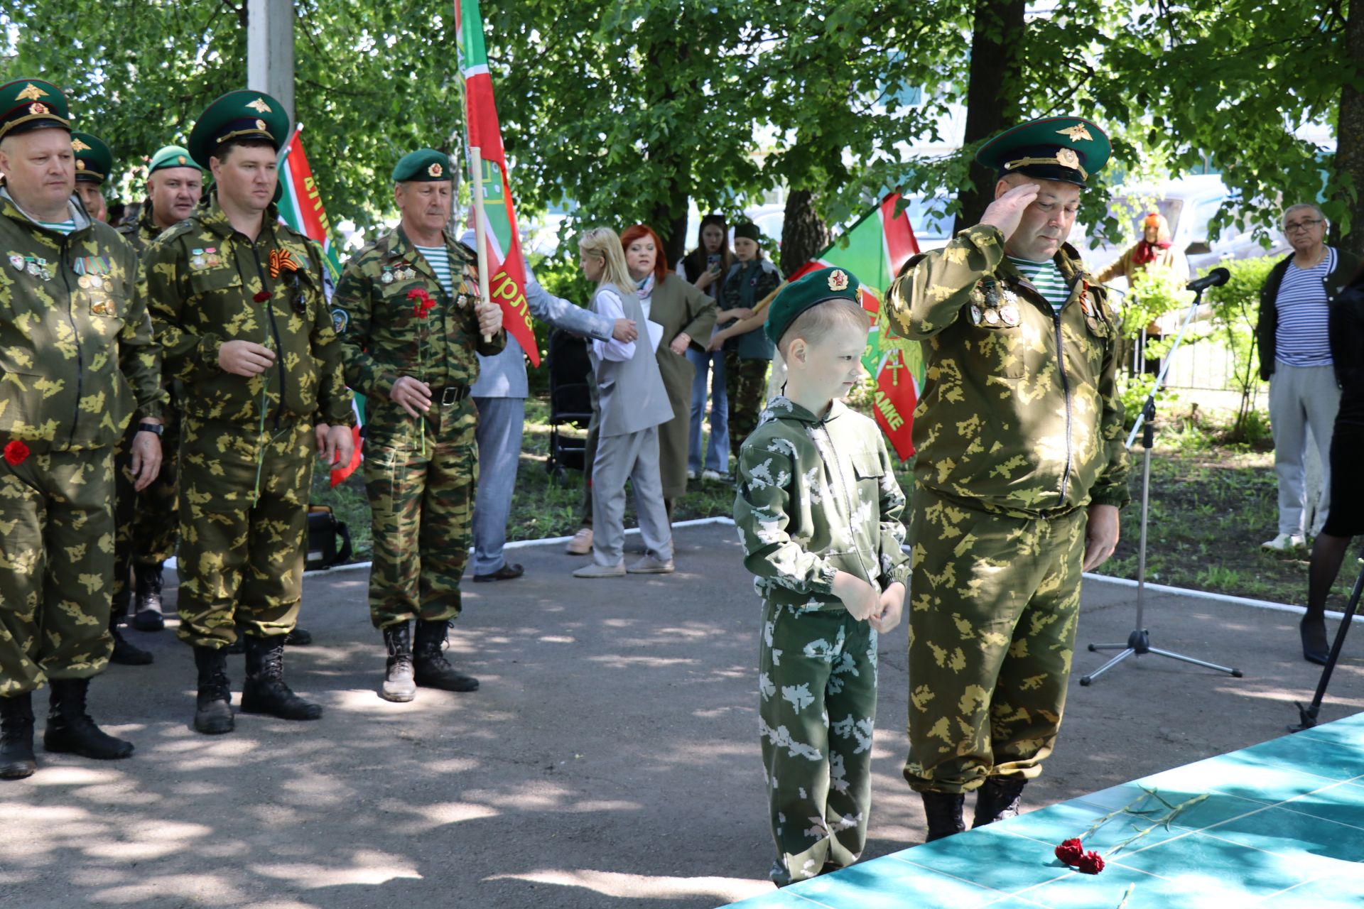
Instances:
[[[1043,117],[994,136],[975,159],[1001,177],[1022,173],[1083,187],[1103,169],[1113,149],[1108,135],[1080,117]]]

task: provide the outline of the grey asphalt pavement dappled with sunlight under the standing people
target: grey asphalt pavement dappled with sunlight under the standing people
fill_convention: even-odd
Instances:
[[[471,583],[453,635],[483,690],[409,705],[375,695],[367,574],[310,576],[318,643],[288,671],[326,705],[319,722],[241,715],[233,735],[196,735],[190,650],[128,632],[155,665],[115,666],[91,699],[138,752],[40,752],[34,777],[0,785],[0,905],[700,909],[769,891],[758,602],[731,527],[677,541],[678,574],[595,582],[569,576],[582,560],[561,545],[516,551],[525,578]],[[1132,621],[1132,590],[1086,585],[1082,642],[1123,641]],[[1028,807],[1277,737],[1316,683],[1296,615],[1161,594],[1146,624],[1154,645],[1245,677],[1148,656],[1072,681]],[[1323,722],[1364,710],[1361,653],[1356,635]],[[1102,661],[1082,647],[1076,668]],[[240,691],[240,657],[229,671]],[[906,695],[902,626],[881,643],[868,857],[922,839],[899,777]]]

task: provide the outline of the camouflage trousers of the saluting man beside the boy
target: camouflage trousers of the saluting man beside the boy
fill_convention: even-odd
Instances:
[[[1065,707],[1087,514],[992,514],[918,484],[913,508],[904,778],[918,792],[1031,780]]]

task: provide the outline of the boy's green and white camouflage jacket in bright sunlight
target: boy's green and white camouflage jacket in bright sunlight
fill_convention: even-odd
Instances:
[[[773,398],[743,440],[734,523],[764,600],[843,609],[832,587],[839,570],[880,590],[903,583],[903,511],[881,431],[842,401],[820,418]]]

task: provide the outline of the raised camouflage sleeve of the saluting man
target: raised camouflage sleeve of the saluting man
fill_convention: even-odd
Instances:
[[[923,341],[947,328],[970,303],[975,283],[994,274],[1003,260],[1004,234],[982,224],[911,259],[885,296],[896,334]]]

